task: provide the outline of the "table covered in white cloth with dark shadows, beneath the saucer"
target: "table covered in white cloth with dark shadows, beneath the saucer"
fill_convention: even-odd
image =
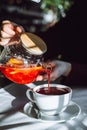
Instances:
[[[29,102],[26,90],[34,86],[33,83],[27,85],[11,83],[0,89],[0,130],[87,130],[86,87],[72,87],[72,101],[80,106],[81,112],[77,118],[60,123],[40,121],[24,112]]]

